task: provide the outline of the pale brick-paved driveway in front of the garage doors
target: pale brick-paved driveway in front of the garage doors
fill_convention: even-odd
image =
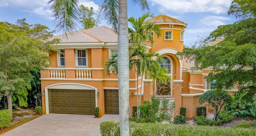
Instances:
[[[46,114],[23,124],[2,136],[100,136],[100,123],[119,122],[119,115]]]

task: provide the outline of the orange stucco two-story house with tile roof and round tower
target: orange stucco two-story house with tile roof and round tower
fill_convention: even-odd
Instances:
[[[178,59],[175,55],[183,49],[186,23],[165,15],[147,21],[159,25],[162,36],[154,36],[154,45],[146,42],[146,46],[149,52],[159,53],[164,58],[164,62],[155,60],[169,71],[172,80],[167,84],[156,84],[148,77],[139,77],[137,82],[136,72],[130,70],[130,109],[136,106],[138,84],[139,89],[142,88],[141,102],[150,100],[155,94],[176,102],[174,116],[180,114],[182,106],[187,108],[186,117],[193,118],[196,107],[202,106],[198,104],[200,95],[214,84],[214,81],[204,79],[211,70],[192,71],[193,62]],[[110,71],[110,76],[106,76],[103,71],[104,62],[117,51],[117,34],[108,27],[99,26],[78,30],[68,34],[68,38],[65,35],[53,38],[60,39],[55,45],[60,52],[49,54],[52,63],[41,71],[43,113],[94,114],[97,106],[100,116],[119,114],[117,72]]]

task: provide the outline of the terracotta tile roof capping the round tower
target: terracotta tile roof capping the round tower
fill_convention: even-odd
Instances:
[[[158,15],[155,16],[153,18],[150,18],[149,20],[146,21],[150,21],[150,22],[154,22],[154,23],[165,23],[165,22],[169,22],[169,23],[180,23],[180,24],[185,24],[186,26],[188,25],[187,23],[177,20],[175,18],[172,18],[170,16],[166,16],[166,15]]]

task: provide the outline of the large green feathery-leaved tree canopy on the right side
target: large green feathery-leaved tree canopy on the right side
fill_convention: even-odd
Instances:
[[[238,86],[246,90],[252,100],[256,93],[256,2],[233,0],[228,14],[241,18],[234,24],[218,26],[205,41],[223,38],[218,44],[184,48],[178,56],[195,61],[195,69],[212,68],[208,80],[216,80],[216,87],[228,89]]]

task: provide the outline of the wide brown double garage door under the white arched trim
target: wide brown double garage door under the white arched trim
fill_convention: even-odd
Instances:
[[[49,112],[94,114],[95,90],[49,89]]]

